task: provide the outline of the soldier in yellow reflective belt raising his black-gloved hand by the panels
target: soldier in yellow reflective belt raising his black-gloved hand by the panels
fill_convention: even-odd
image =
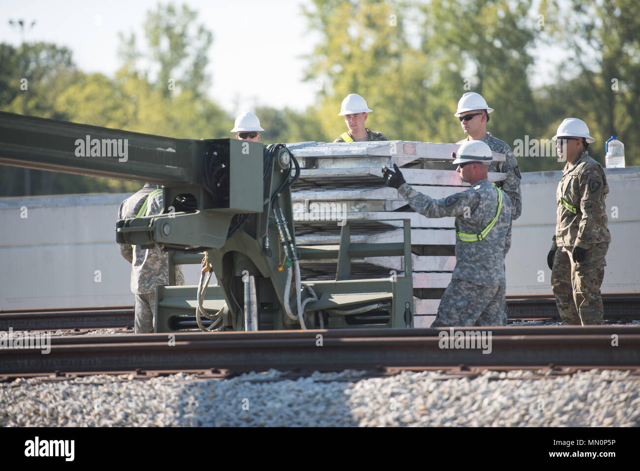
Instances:
[[[455,157],[455,156],[454,156]],[[456,218],[456,267],[433,327],[506,325],[504,256],[511,246],[511,200],[487,179],[491,149],[481,141],[460,146],[457,171],[471,188],[435,200],[383,168],[387,185],[428,218]]]

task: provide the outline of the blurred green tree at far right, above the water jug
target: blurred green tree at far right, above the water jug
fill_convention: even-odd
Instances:
[[[589,155],[604,164],[604,143],[617,135],[627,165],[640,164],[640,4],[634,0],[545,0],[546,38],[566,51],[556,84],[545,90],[548,132],[570,116],[584,120],[596,143]],[[561,104],[559,106],[559,104]]]

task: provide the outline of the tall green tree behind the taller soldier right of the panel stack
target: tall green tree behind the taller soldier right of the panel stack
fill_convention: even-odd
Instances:
[[[422,51],[435,60],[435,88],[447,98],[447,120],[466,92],[483,95],[495,109],[488,131],[511,147],[525,135],[536,136],[540,118],[534,104],[530,77],[538,24],[525,0],[431,1],[420,8],[424,14]],[[447,84],[455,84],[453,90]],[[449,118],[451,116],[451,118]],[[464,138],[460,124],[449,127],[441,140]],[[539,158],[518,160],[520,168],[532,170]]]

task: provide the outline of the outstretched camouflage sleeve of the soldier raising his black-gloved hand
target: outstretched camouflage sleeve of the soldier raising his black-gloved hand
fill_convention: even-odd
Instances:
[[[403,183],[398,189],[398,193],[408,201],[413,211],[419,212],[428,218],[460,216],[464,214],[465,210],[474,211],[480,203],[480,195],[472,189],[435,200]]]

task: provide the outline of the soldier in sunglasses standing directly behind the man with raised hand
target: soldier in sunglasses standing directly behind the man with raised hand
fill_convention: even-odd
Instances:
[[[506,175],[504,180],[495,182],[495,184],[502,188],[504,193],[511,198],[511,204],[513,205],[511,219],[515,221],[522,214],[522,192],[520,191],[522,175],[518,170],[518,161],[513,152],[511,152],[511,147],[506,142],[494,138],[490,132],[486,131],[489,113],[492,111],[493,108],[487,106],[481,95],[469,92],[462,95],[458,102],[458,111],[455,116],[460,118],[460,125],[468,136],[467,141],[483,141],[493,152],[504,154],[506,157],[504,162],[492,162],[489,166],[489,172],[500,172]],[[460,141],[458,144],[463,142],[465,141]]]

